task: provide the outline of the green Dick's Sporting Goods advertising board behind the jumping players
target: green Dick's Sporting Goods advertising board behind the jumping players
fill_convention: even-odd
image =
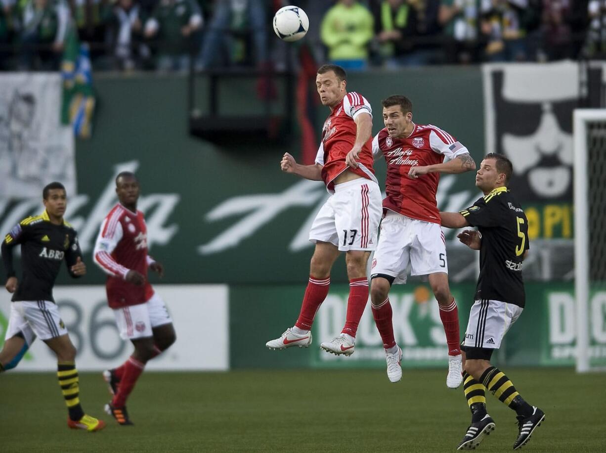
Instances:
[[[247,367],[385,367],[381,337],[368,303],[359,324],[356,349],[350,357],[319,348],[341,332],[347,310],[348,286],[332,284],[318,310],[308,348],[270,351],[265,342],[279,337],[299,314],[304,286],[235,286],[230,289],[230,351],[232,368]],[[473,301],[473,284],[453,284],[461,337]],[[527,284],[527,305],[505,335],[493,363],[508,366],[572,366],[576,347],[574,290],[570,283]],[[394,286],[390,292],[393,328],[402,347],[402,367],[446,367],[447,346],[438,304],[425,284]],[[590,355],[606,364],[606,292],[594,292],[589,304]]]

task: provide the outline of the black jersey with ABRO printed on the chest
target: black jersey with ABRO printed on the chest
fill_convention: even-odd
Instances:
[[[19,222],[2,241],[2,261],[8,277],[15,277],[13,248],[21,244],[22,276],[13,294],[13,302],[22,300],[53,300],[53,285],[65,260],[70,271],[82,252],[78,235],[64,221],[61,225],[50,222],[46,211]]]

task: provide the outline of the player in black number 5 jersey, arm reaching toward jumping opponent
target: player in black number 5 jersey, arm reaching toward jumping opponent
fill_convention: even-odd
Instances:
[[[476,175],[476,186],[484,196],[461,212],[441,212],[442,226],[478,227],[465,230],[459,240],[480,250],[480,275],[471,307],[464,351],[464,392],[471,409],[471,425],[458,450],[476,448],[494,429],[487,414],[485,391],[488,389],[518,418],[518,438],[513,449],[527,443],[545,414],[531,406],[516,391],[510,379],[490,364],[490,357],[521,315],[525,305],[522,261],[528,255],[528,220],[513,198],[507,184],[513,173],[505,156],[487,154]]]

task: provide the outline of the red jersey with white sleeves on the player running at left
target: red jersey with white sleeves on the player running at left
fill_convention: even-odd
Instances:
[[[101,224],[93,260],[107,273],[107,301],[120,308],[142,304],[153,296],[150,283],[142,286],[124,280],[129,270],[147,278],[147,266],[153,260],[147,254],[147,226],[141,211],[132,212],[121,204],[110,210]]]

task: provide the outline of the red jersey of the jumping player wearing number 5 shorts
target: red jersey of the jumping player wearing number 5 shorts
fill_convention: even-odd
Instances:
[[[436,192],[440,173],[427,173],[413,180],[410,167],[441,164],[444,157],[454,159],[468,153],[465,146],[449,133],[431,124],[415,124],[406,138],[391,138],[387,128],[373,139],[373,154],[387,161],[384,209],[431,223],[440,223]]]

